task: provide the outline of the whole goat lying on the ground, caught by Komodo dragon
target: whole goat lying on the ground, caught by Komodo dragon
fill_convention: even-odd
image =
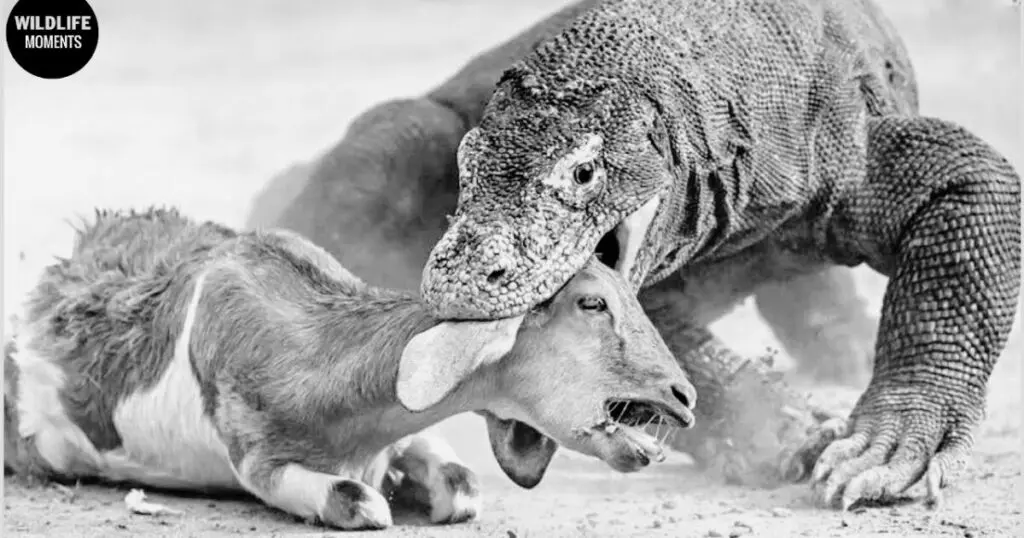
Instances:
[[[385,495],[407,488],[434,523],[475,518],[475,475],[422,432],[458,413],[483,415],[523,488],[558,446],[629,472],[662,454],[645,425],[693,422],[693,386],[596,261],[525,317],[441,321],[294,233],[97,211],[23,314],[5,467],[244,490],[341,529],[390,526]]]

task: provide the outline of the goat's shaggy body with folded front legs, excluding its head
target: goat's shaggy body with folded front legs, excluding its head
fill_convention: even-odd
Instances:
[[[246,490],[341,528],[389,525],[381,492],[400,477],[426,487],[434,522],[475,515],[472,472],[413,434],[469,409],[395,399],[402,348],[436,322],[297,236],[99,212],[24,314],[5,467]]]

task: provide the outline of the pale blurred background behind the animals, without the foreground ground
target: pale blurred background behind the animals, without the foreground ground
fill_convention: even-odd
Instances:
[[[5,316],[68,251],[69,220],[157,204],[242,225],[271,176],[325,151],[353,116],[424,92],[564,3],[92,0],[98,48],[76,75],[34,78],[4,47]],[[971,128],[1024,169],[1012,0],[881,3],[910,50],[923,114]],[[877,308],[885,280],[861,276]],[[773,346],[750,307],[715,330],[744,353]],[[986,428],[1020,425],[1020,332],[993,380],[999,405]],[[497,472],[482,428],[469,437],[458,443],[466,459]]]

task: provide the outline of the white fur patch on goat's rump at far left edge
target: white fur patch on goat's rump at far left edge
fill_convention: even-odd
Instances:
[[[28,325],[23,328],[31,331]],[[63,371],[27,349],[32,340],[31,332],[15,337],[11,356],[18,371],[17,432],[22,438],[35,438],[36,450],[53,470],[87,474],[99,465],[99,455],[85,432],[65,414],[59,397]]]

